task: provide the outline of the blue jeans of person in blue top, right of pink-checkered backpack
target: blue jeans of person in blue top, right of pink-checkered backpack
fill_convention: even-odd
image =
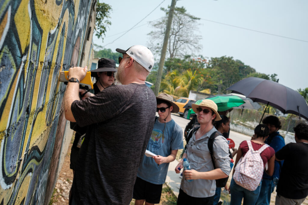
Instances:
[[[261,195],[257,199],[256,205],[269,205],[270,195],[274,191],[275,184],[273,180],[262,179]]]

